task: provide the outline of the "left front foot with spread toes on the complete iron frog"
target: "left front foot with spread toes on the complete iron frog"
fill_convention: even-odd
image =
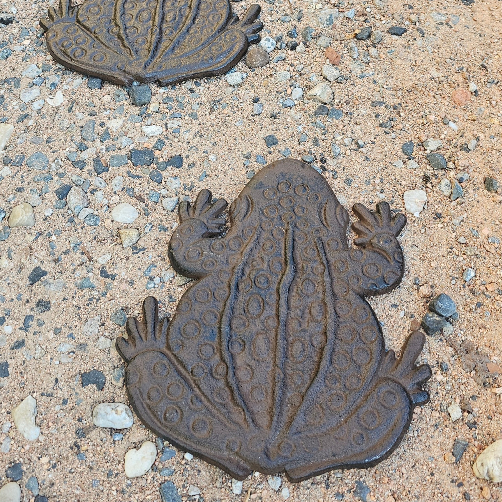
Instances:
[[[195,202],[190,204],[184,200],[179,207],[179,216],[181,223],[194,218],[202,221],[207,231],[201,237],[214,237],[221,234],[222,228],[226,224],[226,218],[221,213],[228,206],[225,199],[218,199],[214,204],[211,203],[213,194],[204,188],[197,194]]]

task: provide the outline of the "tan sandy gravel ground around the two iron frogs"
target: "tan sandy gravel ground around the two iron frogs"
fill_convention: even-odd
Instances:
[[[234,4],[234,10],[242,14],[248,6],[244,0]],[[502,437],[500,396],[493,392],[502,385],[497,372],[502,366],[498,244],[502,197],[484,186],[485,177],[502,183],[502,3],[263,2],[262,35],[283,35],[287,43],[295,40],[286,33],[296,26],[296,41],[300,42],[302,31],[312,27],[312,41],[304,42],[305,52],[281,49],[278,44],[271,59],[281,53],[285,58],[277,63],[271,60],[250,71],[240,62],[236,69],[246,72],[247,78],[236,88],[228,86],[224,75],[173,88],[152,84],[150,107],[142,116],[125,89],[109,83],[90,89],[86,77],[52,60],[41,43],[38,26],[48,7],[46,1],[0,3],[0,11],[16,10],[15,21],[0,28],[0,50],[12,51],[0,60],[0,121],[15,128],[0,153],[4,159],[0,164],[0,208],[7,213],[0,226],[8,226],[12,207],[22,202],[34,206],[36,217],[33,227],[14,228],[0,241],[0,363],[8,362],[3,367],[9,373],[0,378],[0,424],[12,422],[11,410],[31,394],[37,400],[36,422],[41,428],[39,439],[33,442],[25,440],[14,424],[0,432],[0,445],[8,450],[0,453],[0,485],[6,482],[5,469],[21,462],[19,484],[24,501],[35,499],[25,487],[32,476],[38,479],[40,495],[51,502],[160,500],[159,486],[165,481],[175,484],[183,500],[208,502],[246,500],[248,490],[250,500],[502,500],[500,485],[479,480],[472,472],[473,459]],[[332,26],[321,27],[318,16],[326,9],[338,9],[339,16]],[[355,9],[352,19],[343,16],[346,12],[350,16],[351,9]],[[297,11],[302,14],[300,20],[281,21]],[[381,31],[383,40],[371,44],[351,38],[363,26]],[[387,30],[394,26],[408,31],[401,37],[391,36]],[[329,37],[331,47],[341,55],[342,78],[331,84],[334,99],[328,105],[341,110],[341,118],[315,116],[319,103],[305,97],[317,82],[326,82],[320,75],[325,48],[316,45],[320,36]],[[349,55],[351,43],[358,48],[357,59]],[[34,101],[25,105],[20,100],[21,90],[33,80],[21,75],[30,64],[46,65],[41,74],[46,82],[53,75],[60,77],[54,89],[42,83],[37,98],[47,101],[61,91],[64,101],[60,106],[45,102],[42,109],[34,110]],[[281,71],[290,72],[290,77],[278,81]],[[361,72],[374,73],[359,78]],[[297,86],[304,90],[303,98],[294,107],[283,108],[282,102]],[[125,100],[116,102],[117,89],[125,92]],[[460,94],[462,102],[454,94],[458,89],[467,91]],[[173,98],[172,102],[166,97]],[[260,115],[253,115],[255,97],[264,105]],[[383,101],[383,106],[372,106],[376,101]],[[157,109],[154,103],[159,103],[158,111],[153,111]],[[175,112],[181,118],[173,119]],[[113,122],[115,131],[110,127],[113,118],[123,120]],[[96,139],[83,140],[81,128],[89,119],[95,120]],[[382,128],[382,122],[389,119],[392,128]],[[133,147],[152,148],[159,137],[145,137],[141,128],[148,124],[164,129],[165,143],[155,150],[155,163],[180,155],[183,167],[167,165],[158,184],[148,177],[154,164],[141,167],[129,161],[110,167],[96,181],[93,159],[97,155],[107,164],[111,155],[129,155]],[[110,139],[101,141],[105,129]],[[269,134],[279,140],[270,149],[263,140]],[[299,143],[301,135],[307,139]],[[133,143],[120,143],[123,136]],[[426,160],[421,142],[429,138],[442,141],[443,148],[437,153],[447,158],[447,170],[433,170]],[[470,150],[467,144],[473,139],[477,143]],[[364,145],[359,147],[357,140]],[[401,150],[408,141],[415,143],[415,169],[407,167],[408,158]],[[79,150],[80,142],[87,150]],[[341,150],[336,159],[332,143]],[[111,145],[116,149],[106,148]],[[155,442],[156,438],[137,417],[130,429],[122,431],[120,441],[112,439],[113,431],[92,428],[96,404],[128,402],[117,378],[121,359],[113,348],[98,348],[103,342],[98,339],[113,341],[122,334],[123,327],[110,320],[117,309],[137,314],[143,298],[153,293],[163,301],[162,312],[172,314],[187,287],[183,278],[173,276],[166,253],[178,221],[176,211],[166,211],[161,202],[152,201],[156,196],[151,191],[165,190],[160,193],[161,201],[174,195],[193,199],[198,190],[207,187],[215,196],[231,201],[253,172],[283,158],[280,152],[284,154],[286,149],[292,158],[311,156],[307,160],[322,169],[348,207],[355,202],[374,207],[387,200],[404,211],[406,190],[427,192],[424,210],[418,217],[408,214],[400,238],[406,257],[400,287],[370,303],[385,323],[388,346],[399,351],[411,323],[427,311],[427,294],[444,292],[456,302],[459,319],[453,334],[427,337],[423,351],[422,360],[433,370],[426,386],[431,402],[415,411],[410,430],[395,453],[367,470],[335,471],[298,484],[282,476],[278,491],[268,484],[267,476],[257,474],[244,481],[241,494],[233,494],[230,476],[202,460],[187,460],[184,452],[176,450],[175,457],[166,462],[160,462],[159,451],[147,474],[128,479],[123,471],[124,454],[144,440]],[[28,157],[36,152],[48,159],[41,170],[27,166]],[[21,155],[24,161],[16,166],[16,156]],[[262,157],[257,160],[257,156]],[[70,158],[85,161],[85,167],[80,170]],[[404,162],[403,167],[399,161]],[[438,185],[443,178],[453,182],[461,172],[469,174],[462,183],[464,194],[451,202]],[[48,173],[51,179],[41,176]],[[64,197],[58,199],[58,188],[78,181],[72,175],[83,179],[89,207],[99,216],[98,226],[72,217]],[[118,185],[113,187],[112,180],[117,176],[123,180],[115,191]],[[180,178],[176,193],[171,177]],[[138,209],[140,215],[134,223],[112,221],[111,208],[118,202],[129,202]],[[122,227],[139,229],[141,238],[133,248],[122,247],[117,234]],[[152,264],[155,267],[149,268]],[[47,275],[30,285],[28,277],[38,266]],[[475,276],[466,283],[462,273],[468,267]],[[85,278],[92,289],[80,289],[88,284],[82,283]],[[86,330],[84,324],[97,315],[98,330]],[[471,344],[467,346],[470,358],[459,357],[462,343],[464,347]],[[490,361],[491,371],[486,361]],[[91,369],[105,375],[101,391],[92,385],[82,387],[81,373]],[[453,402],[464,410],[456,421],[447,412]],[[456,438],[466,440],[468,447],[458,463],[450,463],[448,453]],[[160,470],[165,467],[172,467],[174,473],[162,476]],[[190,485],[200,493],[189,495]],[[44,500],[40,495],[38,500]]]

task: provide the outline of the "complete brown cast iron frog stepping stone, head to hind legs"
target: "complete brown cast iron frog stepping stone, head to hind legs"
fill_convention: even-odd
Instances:
[[[220,466],[286,471],[301,481],[368,467],[397,447],[431,376],[415,361],[424,335],[401,357],[386,351],[364,296],[396,288],[406,223],[381,202],[348,213],[317,171],[296,160],[263,168],[230,207],[209,190],[182,202],[169,242],[179,273],[197,280],[171,320],[158,302],[129,318],[116,347],[128,363],[131,403],[153,432]]]

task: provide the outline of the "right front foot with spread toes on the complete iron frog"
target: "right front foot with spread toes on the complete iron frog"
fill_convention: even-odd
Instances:
[[[357,234],[354,243],[389,255],[388,250],[395,246],[396,237],[406,225],[406,216],[398,213],[393,218],[387,202],[377,204],[374,211],[370,211],[362,204],[354,204],[353,209],[360,220],[352,223],[352,228]]]

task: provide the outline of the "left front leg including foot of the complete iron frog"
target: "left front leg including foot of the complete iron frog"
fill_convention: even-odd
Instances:
[[[169,260],[176,272],[200,279],[214,269],[220,259],[218,238],[226,224],[221,213],[228,203],[218,199],[211,203],[212,193],[201,190],[193,205],[183,201],[178,210],[180,225],[169,241]]]

